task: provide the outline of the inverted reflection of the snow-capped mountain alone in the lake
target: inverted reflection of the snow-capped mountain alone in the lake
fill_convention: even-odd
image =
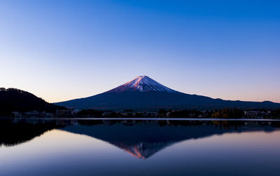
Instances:
[[[171,123],[179,122],[173,121]],[[245,122],[235,121],[230,123],[197,121],[184,125],[167,125],[165,121],[153,123],[139,121],[139,123],[113,123],[96,126],[67,126],[64,130],[109,142],[137,158],[148,158],[165,147],[183,140],[232,132],[275,130],[274,127],[268,124],[245,126]]]

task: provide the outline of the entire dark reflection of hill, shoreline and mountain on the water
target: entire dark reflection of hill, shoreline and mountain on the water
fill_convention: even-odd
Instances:
[[[13,146],[32,140],[48,130],[62,128],[109,142],[137,158],[149,158],[176,142],[223,133],[267,132],[279,122],[246,121],[20,121],[0,123],[0,146]],[[67,126],[68,125],[68,126]]]

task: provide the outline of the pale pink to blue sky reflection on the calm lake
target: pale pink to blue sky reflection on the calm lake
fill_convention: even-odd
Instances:
[[[87,135],[50,130],[0,147],[0,175],[276,175],[279,136],[277,130],[211,135],[172,144],[143,160]]]

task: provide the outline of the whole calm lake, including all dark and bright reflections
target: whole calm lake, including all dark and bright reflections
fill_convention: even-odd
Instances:
[[[279,121],[0,120],[0,175],[279,175]]]

